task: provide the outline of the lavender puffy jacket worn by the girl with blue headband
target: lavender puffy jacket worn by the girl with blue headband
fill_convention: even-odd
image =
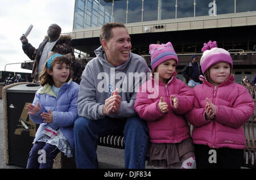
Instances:
[[[64,83],[58,96],[52,91],[51,85],[46,84],[42,88],[38,89],[35,94],[33,104],[36,105],[37,102],[40,103],[42,107],[38,113],[31,115],[30,118],[36,124],[40,124],[38,130],[36,131],[35,139],[38,140],[42,134],[42,130],[47,126],[53,129],[60,128],[61,132],[67,138],[69,144],[72,148],[75,148],[74,138],[73,138],[73,125],[75,120],[78,118],[76,101],[79,92],[79,85],[72,80],[68,83]],[[51,110],[53,113],[52,123],[43,122],[41,115],[43,112],[48,112]]]

